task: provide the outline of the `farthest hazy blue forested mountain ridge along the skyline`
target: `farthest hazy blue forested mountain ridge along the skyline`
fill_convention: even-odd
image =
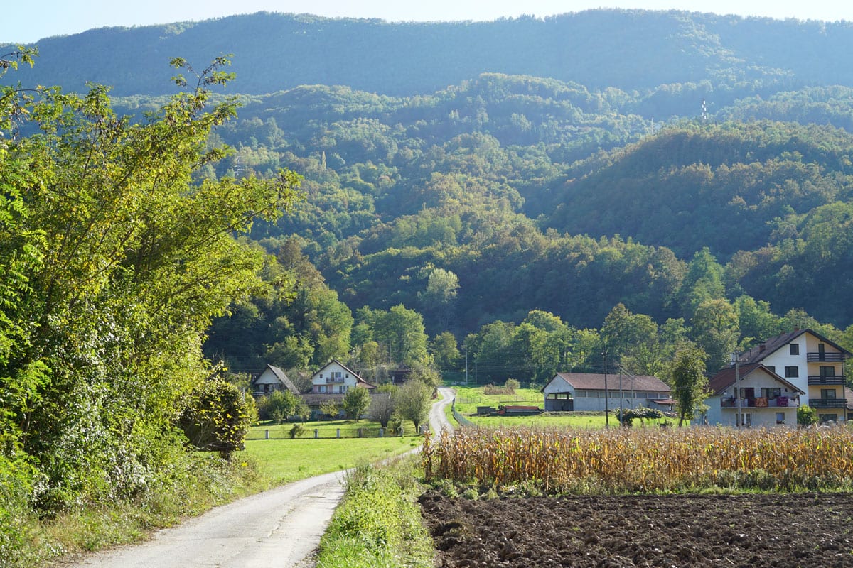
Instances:
[[[853,24],[641,10],[544,20],[388,23],[258,13],[165,26],[102,28],[38,42],[15,80],[117,95],[171,92],[167,61],[234,54],[242,93],[302,84],[388,95],[432,93],[483,72],[554,77],[594,89],[669,83],[853,86]],[[695,85],[694,85],[695,87]],[[778,89],[775,89],[778,90]]]

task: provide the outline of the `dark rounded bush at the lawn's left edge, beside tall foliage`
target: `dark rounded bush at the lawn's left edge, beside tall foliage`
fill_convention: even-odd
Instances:
[[[228,457],[243,449],[243,439],[256,417],[252,397],[230,382],[212,379],[194,389],[178,422],[190,444]]]

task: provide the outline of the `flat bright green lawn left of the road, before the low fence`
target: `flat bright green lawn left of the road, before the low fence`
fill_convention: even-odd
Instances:
[[[347,439],[254,439],[242,454],[258,462],[273,484],[290,483],[354,468],[360,462],[380,462],[414,450],[422,436]]]

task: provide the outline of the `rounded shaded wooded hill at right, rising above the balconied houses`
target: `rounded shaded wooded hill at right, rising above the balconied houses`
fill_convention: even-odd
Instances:
[[[850,199],[851,148],[846,131],[814,124],[665,128],[572,167],[531,214],[553,211],[546,226],[564,231],[728,257],[773,242],[775,227],[796,215]]]

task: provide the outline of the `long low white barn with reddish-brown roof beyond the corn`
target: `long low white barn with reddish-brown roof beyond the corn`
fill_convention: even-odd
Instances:
[[[557,373],[543,387],[545,411],[610,410],[645,406],[669,410],[670,387],[655,376]],[[606,393],[606,399],[605,399]],[[606,404],[605,404],[606,400]]]

